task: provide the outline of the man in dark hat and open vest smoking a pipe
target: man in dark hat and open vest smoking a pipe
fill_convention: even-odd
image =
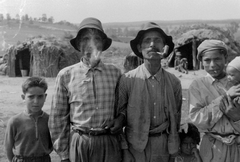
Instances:
[[[173,50],[172,37],[149,22],[130,45],[144,63],[123,74],[119,83],[118,107],[126,115],[128,142],[123,161],[174,161],[179,150],[182,87],[177,77],[161,67],[161,59]]]

